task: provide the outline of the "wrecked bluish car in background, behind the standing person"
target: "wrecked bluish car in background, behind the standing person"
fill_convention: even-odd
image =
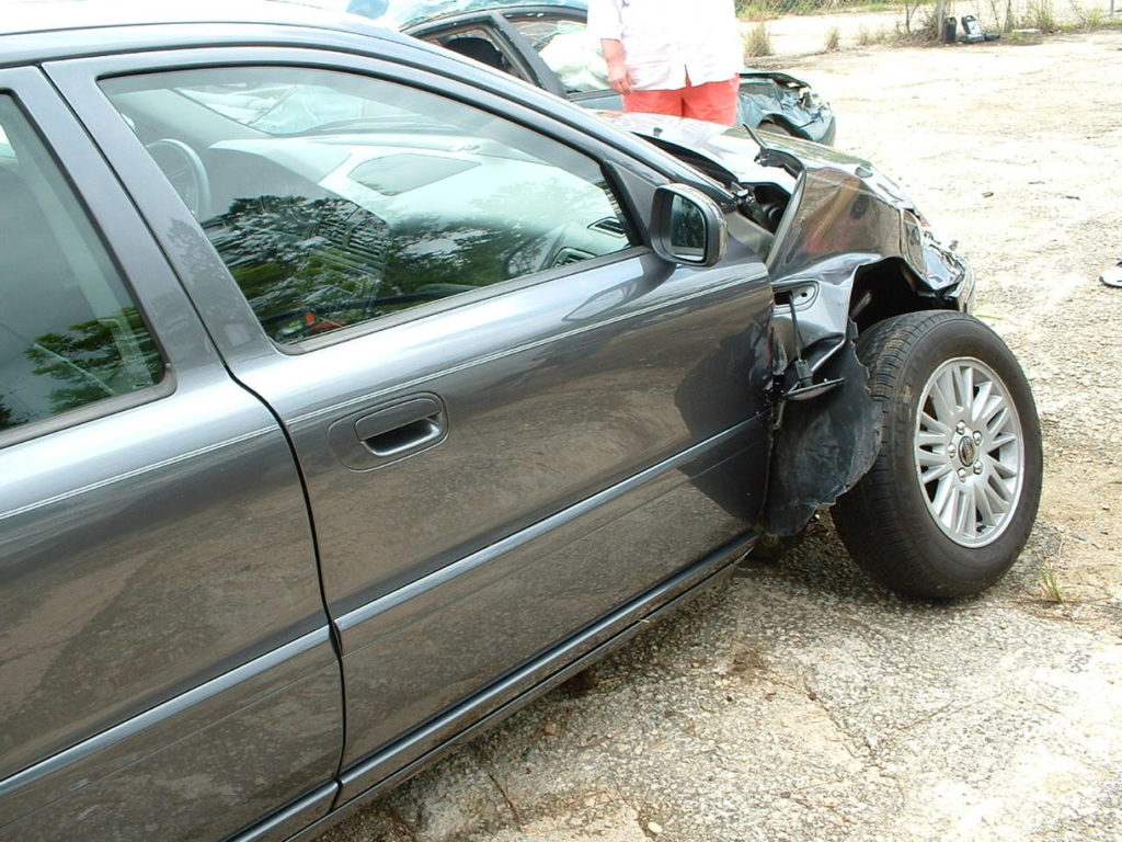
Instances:
[[[381,24],[525,79],[586,108],[618,110],[599,44],[586,33],[582,0],[303,0],[373,17]],[[834,112],[800,79],[743,71],[737,122],[833,144]]]

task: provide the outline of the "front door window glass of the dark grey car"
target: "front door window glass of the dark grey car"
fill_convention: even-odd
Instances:
[[[277,342],[632,242],[595,161],[445,97],[275,66],[102,85]]]

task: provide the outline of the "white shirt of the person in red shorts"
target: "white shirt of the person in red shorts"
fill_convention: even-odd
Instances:
[[[589,0],[588,29],[623,44],[641,91],[724,82],[744,66],[733,0]]]

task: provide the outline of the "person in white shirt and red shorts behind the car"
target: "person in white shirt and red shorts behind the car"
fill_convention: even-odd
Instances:
[[[624,111],[736,123],[744,64],[733,0],[589,0]]]

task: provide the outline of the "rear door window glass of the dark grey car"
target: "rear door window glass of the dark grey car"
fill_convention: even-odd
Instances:
[[[163,373],[76,196],[0,95],[0,432],[146,388]]]

